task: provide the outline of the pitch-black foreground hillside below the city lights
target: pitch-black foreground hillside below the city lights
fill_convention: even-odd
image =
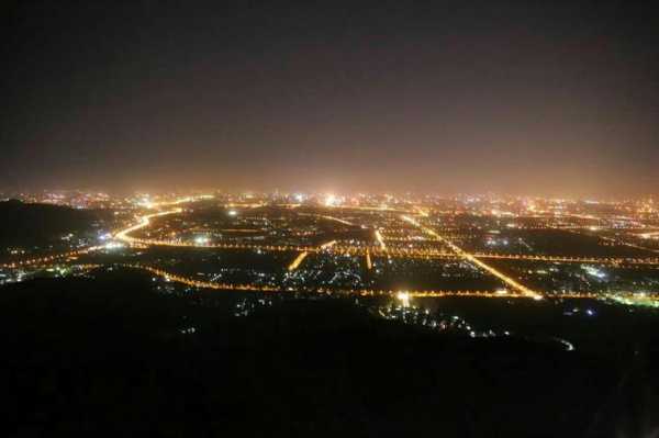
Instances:
[[[152,289],[125,271],[0,289],[0,435],[600,437],[649,426],[657,381],[643,362],[442,336],[348,299],[237,318],[236,295]]]

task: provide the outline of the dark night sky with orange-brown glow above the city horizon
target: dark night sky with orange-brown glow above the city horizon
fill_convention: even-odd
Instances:
[[[659,193],[649,5],[230,3],[3,7],[0,189]]]

